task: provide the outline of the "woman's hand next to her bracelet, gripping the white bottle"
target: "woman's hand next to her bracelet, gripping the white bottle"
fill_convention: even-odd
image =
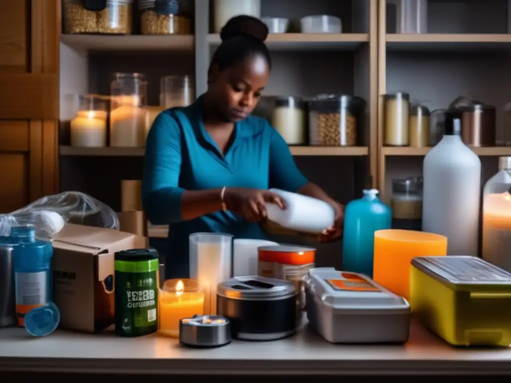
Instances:
[[[227,210],[247,221],[258,222],[267,218],[266,202],[285,209],[282,198],[269,190],[227,187],[223,196]]]

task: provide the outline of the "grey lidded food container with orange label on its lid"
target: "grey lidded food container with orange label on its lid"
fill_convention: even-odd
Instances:
[[[330,343],[405,343],[410,305],[362,274],[334,268],[305,278],[310,326]]]

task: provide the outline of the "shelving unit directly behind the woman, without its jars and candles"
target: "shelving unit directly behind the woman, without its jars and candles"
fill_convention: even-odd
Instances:
[[[357,95],[367,102],[365,126],[359,131],[361,146],[290,147],[298,167],[311,181],[347,203],[358,197],[363,187],[376,186],[377,182],[378,0],[261,3],[262,16],[288,17],[292,31],[298,30],[300,18],[306,15],[326,13],[342,19],[342,34],[270,34],[267,44],[273,66],[265,93],[298,97],[342,93]],[[212,2],[195,0],[194,5],[194,36],[61,35],[62,191],[81,190],[117,210],[121,179],[142,177],[144,148],[69,146],[68,123],[76,112],[78,94],[109,94],[111,73],[119,71],[146,74],[149,105],[157,105],[159,78],[163,75],[194,75],[196,95],[207,89],[207,68],[220,37],[210,28]],[[158,230],[157,236],[164,235],[164,230]],[[320,253],[326,251],[331,258],[325,263],[338,258],[339,246],[321,245]]]

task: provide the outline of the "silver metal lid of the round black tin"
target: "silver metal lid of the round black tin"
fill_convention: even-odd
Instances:
[[[296,291],[292,282],[259,276],[234,277],[219,283],[219,296],[241,300],[275,300],[294,297]]]

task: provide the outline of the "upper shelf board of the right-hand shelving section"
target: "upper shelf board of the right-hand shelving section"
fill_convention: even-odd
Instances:
[[[511,34],[386,34],[387,51],[485,51],[511,49]]]

